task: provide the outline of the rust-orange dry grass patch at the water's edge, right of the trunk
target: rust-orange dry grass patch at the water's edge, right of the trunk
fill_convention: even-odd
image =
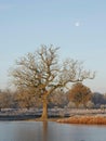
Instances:
[[[67,119],[58,119],[58,123],[66,124],[88,124],[88,125],[106,125],[106,117],[103,116],[74,116]]]

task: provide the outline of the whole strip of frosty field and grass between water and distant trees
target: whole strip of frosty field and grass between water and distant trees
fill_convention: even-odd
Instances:
[[[106,110],[49,110],[48,119],[41,118],[41,110],[2,110],[0,121],[57,121],[66,124],[106,125]]]

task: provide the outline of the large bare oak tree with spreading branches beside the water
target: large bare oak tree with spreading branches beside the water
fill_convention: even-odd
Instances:
[[[15,68],[11,72],[13,84],[18,89],[32,90],[42,99],[42,119],[48,118],[48,97],[57,88],[64,88],[69,82],[93,79],[94,73],[84,70],[82,63],[66,60],[58,61],[59,48],[41,46],[34,53],[28,53],[16,61]]]

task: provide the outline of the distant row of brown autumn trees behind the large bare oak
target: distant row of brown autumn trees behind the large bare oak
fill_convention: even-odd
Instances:
[[[90,88],[82,84],[75,84],[69,91],[57,89],[49,95],[48,101],[49,108],[100,108],[105,105],[106,93],[91,92]],[[41,98],[35,97],[32,91],[0,91],[0,110],[30,107],[42,107]]]

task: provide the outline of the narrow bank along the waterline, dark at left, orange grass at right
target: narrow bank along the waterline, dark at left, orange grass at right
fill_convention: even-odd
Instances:
[[[48,119],[42,119],[41,116],[37,115],[3,115],[0,116],[0,121],[14,121],[14,120],[26,120],[26,121],[57,121],[63,124],[91,124],[91,125],[106,125],[106,114],[92,114],[92,115],[71,115],[70,117],[57,117],[51,116]]]

